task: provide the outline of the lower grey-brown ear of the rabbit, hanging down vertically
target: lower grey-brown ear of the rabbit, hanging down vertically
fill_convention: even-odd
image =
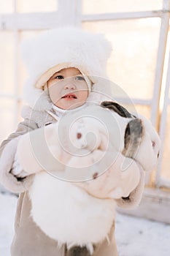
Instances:
[[[135,118],[128,122],[125,128],[124,149],[122,151],[122,154],[125,155],[125,157],[135,158],[143,134],[144,127],[142,126],[141,119]]]

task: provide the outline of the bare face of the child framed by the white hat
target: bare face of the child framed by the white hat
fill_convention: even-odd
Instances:
[[[62,109],[73,109],[83,105],[88,98],[88,84],[79,69],[69,67],[56,72],[47,87],[53,104]]]

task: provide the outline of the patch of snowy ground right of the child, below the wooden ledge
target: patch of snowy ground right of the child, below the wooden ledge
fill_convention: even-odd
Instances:
[[[169,256],[170,225],[117,214],[119,256]]]

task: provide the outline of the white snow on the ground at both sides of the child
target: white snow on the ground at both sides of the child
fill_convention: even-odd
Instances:
[[[17,197],[0,193],[0,255],[9,256]],[[169,256],[170,225],[117,214],[119,256]],[[24,255],[23,255],[24,256]]]

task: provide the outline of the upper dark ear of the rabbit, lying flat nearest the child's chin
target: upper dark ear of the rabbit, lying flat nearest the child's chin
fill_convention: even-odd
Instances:
[[[133,118],[135,116],[131,115],[131,113],[128,112],[123,106],[119,105],[116,102],[101,102],[101,107],[103,108],[109,108],[109,110],[115,111],[118,115],[125,117],[125,118]]]

